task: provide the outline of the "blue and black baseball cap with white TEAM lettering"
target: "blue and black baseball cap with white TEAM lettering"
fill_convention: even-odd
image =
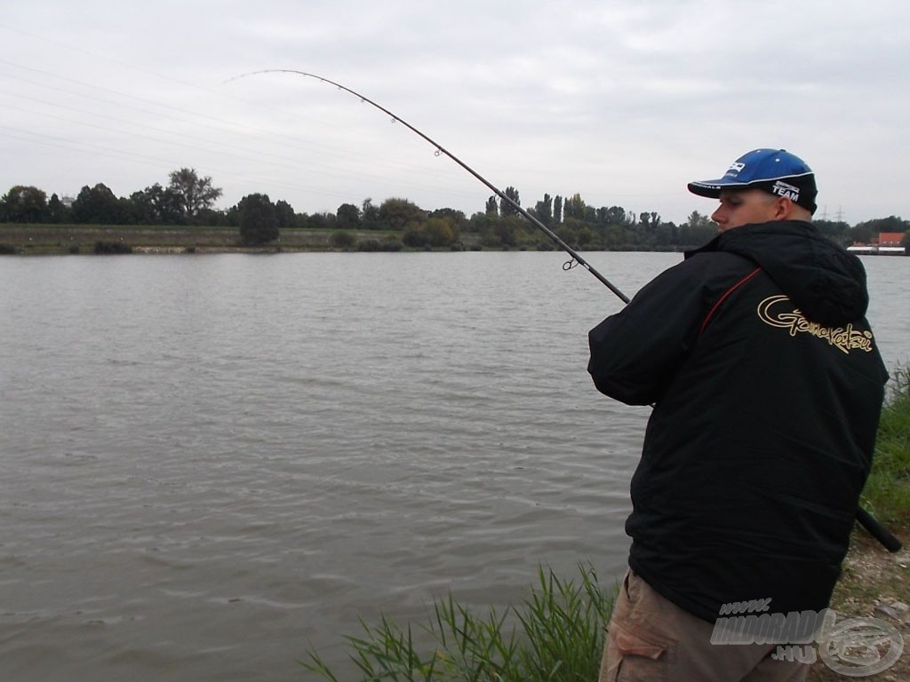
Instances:
[[[753,149],[736,159],[727,172],[716,180],[689,183],[689,191],[698,196],[716,199],[723,189],[763,189],[777,196],[786,196],[794,204],[814,213],[815,175],[799,156],[785,149]]]

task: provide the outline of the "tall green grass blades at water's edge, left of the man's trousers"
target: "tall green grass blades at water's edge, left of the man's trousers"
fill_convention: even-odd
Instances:
[[[410,625],[386,617],[375,627],[361,621],[363,637],[347,637],[350,660],[364,682],[590,682],[600,668],[614,591],[601,589],[592,567],[579,571],[579,579],[561,580],[541,567],[521,607],[490,608],[485,616],[450,595],[436,603],[416,638]],[[420,648],[415,639],[427,644]],[[300,663],[323,679],[341,679],[313,650]]]

